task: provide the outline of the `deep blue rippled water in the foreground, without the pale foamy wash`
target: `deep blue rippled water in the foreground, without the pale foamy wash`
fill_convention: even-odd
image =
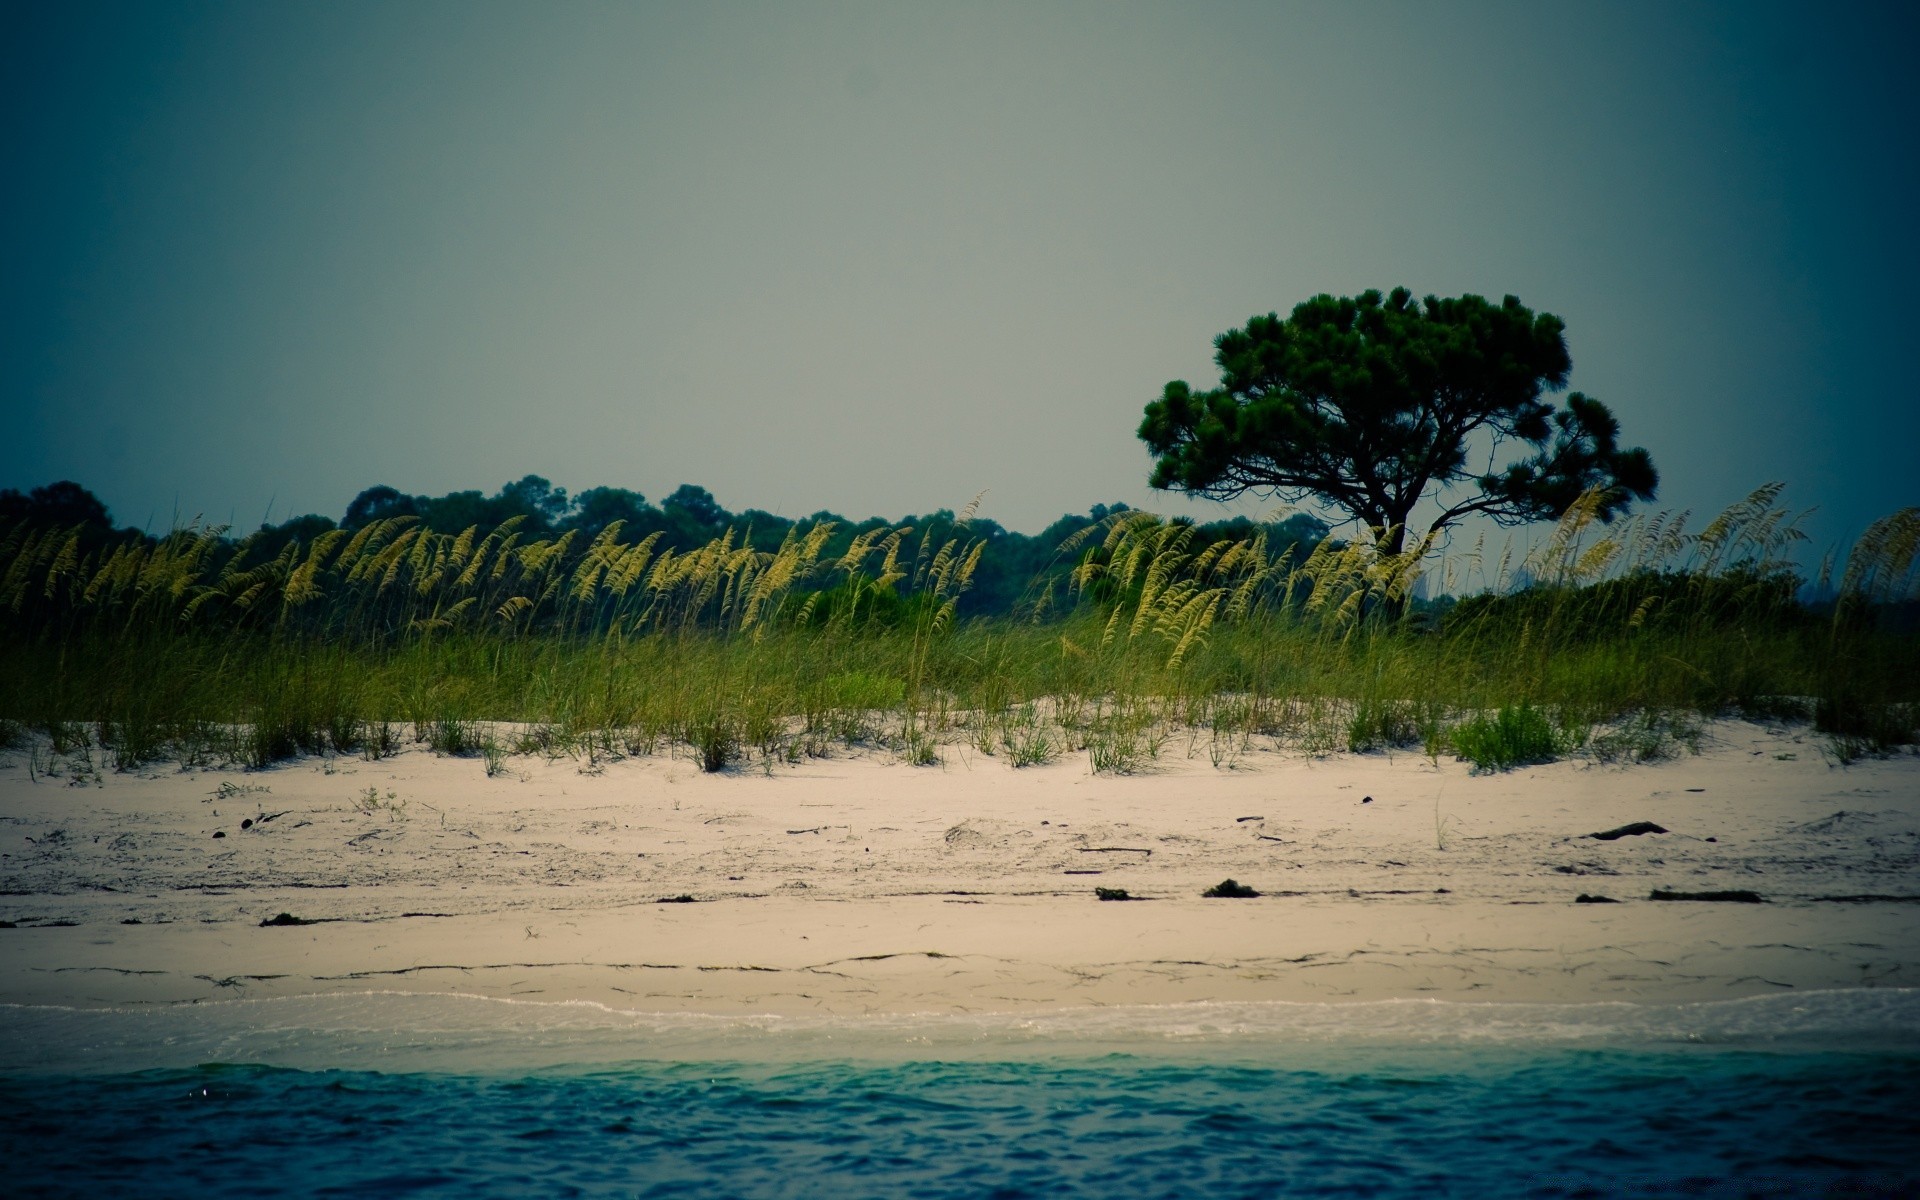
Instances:
[[[1377,1046],[1311,1068],[204,1066],[0,1079],[0,1160],[21,1196],[1465,1196],[1596,1183],[1638,1196],[1701,1194],[1701,1181],[1901,1194],[1920,1185],[1916,1068],[1910,1054]]]

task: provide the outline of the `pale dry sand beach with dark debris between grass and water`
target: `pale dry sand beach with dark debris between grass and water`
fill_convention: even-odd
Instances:
[[[718,776],[662,755],[488,778],[411,749],[73,780],[44,776],[44,745],[29,758],[0,755],[13,1004],[956,1014],[1920,987],[1920,756],[1839,766],[1805,728],[1718,722],[1668,762],[1486,776],[1417,753],[1221,770],[1179,737],[1125,778],[966,747]],[[1632,822],[1667,833],[1588,837]],[[1225,877],[1263,895],[1200,897]],[[278,914],[313,924],[261,925]]]

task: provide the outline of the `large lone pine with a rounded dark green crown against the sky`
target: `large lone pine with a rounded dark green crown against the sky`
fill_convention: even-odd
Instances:
[[[1146,405],[1154,488],[1317,497],[1400,553],[1421,501],[1440,503],[1427,526],[1438,534],[1471,515],[1553,518],[1592,488],[1611,518],[1659,484],[1647,451],[1619,447],[1607,405],[1580,392],[1557,411],[1542,399],[1572,369],[1565,323],[1513,296],[1315,296],[1213,346],[1219,388],[1175,380]]]

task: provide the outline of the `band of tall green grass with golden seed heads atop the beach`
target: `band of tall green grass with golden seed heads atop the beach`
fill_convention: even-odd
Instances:
[[[1724,710],[1803,712],[1853,755],[1910,743],[1920,637],[1897,618],[1920,601],[1920,511],[1828,564],[1832,603],[1812,609],[1778,492],[1699,532],[1686,515],[1605,526],[1588,497],[1519,563],[1332,541],[1294,561],[1260,532],[1200,543],[1119,513],[1062,545],[1069,593],[1018,620],[958,618],[983,553],[966,516],[941,536],[866,532],[837,557],[826,524],[774,551],[730,530],[676,553],[620,526],[582,545],[513,520],[390,518],[263,561],[221,530],[88,547],[15,526],[0,530],[0,716],[84,730],[123,768],[399,739],[488,770],[505,753],[593,768],[676,747],[708,770],[772,768],[862,745],[920,764],[972,747],[1014,766],[1204,753],[1225,768],[1254,739],[1498,768],[1601,747],[1628,716]],[[1475,595],[1419,603],[1423,580]]]

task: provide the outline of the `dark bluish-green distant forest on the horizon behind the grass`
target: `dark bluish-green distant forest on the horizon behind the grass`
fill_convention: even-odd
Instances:
[[[1018,534],[995,520],[975,516],[968,522],[972,538],[983,538],[979,568],[973,574],[972,589],[962,597],[960,611],[970,616],[1010,614],[1023,597],[1029,597],[1035,584],[1044,584],[1048,576],[1064,574],[1071,563],[1060,557],[1060,543],[1081,530],[1098,524],[1114,513],[1125,513],[1127,505],[1094,505],[1087,513],[1069,513],[1039,534]],[[515,516],[528,536],[578,532],[574,553],[582,553],[593,538],[614,522],[624,522],[618,541],[636,543],[649,534],[660,534],[660,549],[695,549],[714,538],[733,530],[735,538],[745,538],[755,549],[774,551],[795,528],[801,532],[831,522],[835,536],[828,543],[826,557],[839,555],[854,536],[876,528],[912,526],[914,538],[931,532],[935,540],[947,536],[954,524],[952,509],[908,515],[899,518],[868,516],[852,520],[839,513],[814,513],[810,516],[787,518],[760,509],[730,513],[707,488],[682,484],[666,499],[653,503],[639,492],[626,488],[588,488],[578,495],[568,495],[564,488],[555,488],[549,480],[528,474],[501,486],[488,495],[478,490],[449,492],[445,495],[409,495],[390,486],[367,488],[348,503],[346,513],[334,520],[319,513],[294,516],[282,524],[261,524],[252,534],[230,530],[234,549],[244,553],[242,566],[275,559],[288,543],[309,543],[334,528],[357,530],[384,516],[417,516],[420,524],[436,534],[459,534],[467,528],[488,532]],[[108,507],[86,488],[75,482],[48,484],[31,492],[13,488],[0,490],[0,526],[27,522],[33,526],[81,528],[92,545],[115,540],[152,540],[154,534],[115,528]],[[1196,540],[1204,545],[1215,540],[1240,540],[1252,534],[1256,522],[1246,516],[1196,524]],[[1273,553],[1294,551],[1296,561],[1327,538],[1327,522],[1296,513],[1284,522],[1267,526],[1267,549]]]

